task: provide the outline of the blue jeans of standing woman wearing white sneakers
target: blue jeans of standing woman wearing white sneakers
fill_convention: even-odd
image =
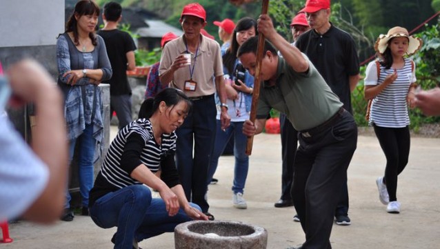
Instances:
[[[243,134],[244,122],[230,122],[230,126],[225,131],[221,130],[221,122],[217,120],[217,132],[215,135],[214,150],[210,160],[210,168],[208,169],[208,182],[209,184],[214,176],[215,170],[219,165],[219,157],[223,154],[228,145],[230,137],[234,136],[234,181],[232,183],[232,191],[234,194],[237,192],[243,193],[243,188],[248,177],[249,170],[249,157],[246,155],[246,145],[248,143],[248,137]]]

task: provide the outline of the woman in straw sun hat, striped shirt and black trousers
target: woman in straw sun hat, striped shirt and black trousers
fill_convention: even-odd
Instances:
[[[379,35],[374,49],[379,60],[366,69],[365,98],[372,99],[369,124],[386,157],[385,176],[376,181],[380,201],[387,212],[399,213],[397,176],[408,163],[410,154],[410,118],[408,106],[414,108],[416,76],[412,59],[407,58],[422,46],[406,28],[394,27]]]

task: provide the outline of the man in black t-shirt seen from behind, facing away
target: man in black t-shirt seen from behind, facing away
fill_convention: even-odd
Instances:
[[[109,2],[104,6],[102,18],[104,28],[99,34],[106,43],[108,59],[112,65],[112,79],[103,83],[110,83],[110,119],[113,111],[119,120],[119,129],[132,121],[132,90],[128,84],[127,70],[134,70],[134,50],[136,45],[128,32],[117,29],[122,19],[122,8],[119,3]]]

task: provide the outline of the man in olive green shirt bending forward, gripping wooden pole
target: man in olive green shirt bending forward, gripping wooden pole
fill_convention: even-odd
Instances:
[[[260,133],[271,108],[286,114],[299,132],[292,197],[306,232],[301,248],[331,248],[334,210],[356,150],[357,126],[306,55],[274,30],[270,17],[263,14],[258,23],[260,34],[268,39],[260,70],[263,82],[257,120],[245,121],[243,133]],[[241,63],[252,75],[257,66],[257,40],[248,39],[238,51]]]

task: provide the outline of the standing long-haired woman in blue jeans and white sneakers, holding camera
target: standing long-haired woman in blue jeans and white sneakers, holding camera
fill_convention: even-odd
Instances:
[[[220,109],[217,105],[217,132],[215,136],[214,150],[208,169],[208,184],[211,182],[214,172],[219,164],[219,157],[223,154],[230,137],[234,136],[234,181],[232,183],[232,203],[234,208],[248,208],[243,199],[243,188],[248,177],[249,157],[246,155],[246,135],[243,135],[243,122],[249,119],[250,105],[252,103],[252,91],[254,77],[244,70],[237,58],[237,50],[250,37],[257,35],[257,21],[250,17],[243,17],[237,23],[232,34],[231,46],[223,55],[223,77],[225,78],[226,93],[228,99],[228,114],[231,117],[230,126],[221,130]],[[217,103],[220,101],[217,98]]]

